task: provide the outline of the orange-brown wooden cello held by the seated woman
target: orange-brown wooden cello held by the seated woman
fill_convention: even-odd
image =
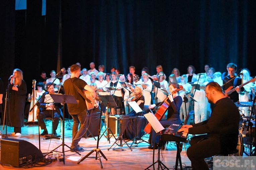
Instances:
[[[178,89],[174,90],[174,91],[180,91],[183,89],[183,86],[179,86]],[[173,91],[173,92],[174,92]],[[172,93],[173,93],[172,92]],[[157,112],[155,113],[155,116],[157,118],[158,121],[160,121],[163,117],[164,117],[164,114],[166,112],[166,110],[168,109],[169,107],[169,102],[167,101],[168,97],[166,97],[166,99],[164,99],[164,101],[162,102],[162,104],[160,104],[161,106],[159,107],[159,109],[157,110]],[[149,134],[151,131],[151,124],[147,124],[146,127],[144,128],[144,132],[146,132],[147,134]]]

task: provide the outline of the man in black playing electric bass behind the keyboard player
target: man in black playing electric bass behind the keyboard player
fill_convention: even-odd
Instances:
[[[227,67],[228,67],[229,75],[226,76],[223,79],[223,84],[227,83],[230,79],[235,77],[235,72],[237,71],[237,65],[234,64],[234,63],[229,63],[227,65]],[[233,100],[233,102],[237,102],[239,100],[239,95],[238,94],[244,93],[244,88],[243,87],[241,87],[241,88],[238,87],[241,84],[242,84],[242,79],[240,77],[236,77],[235,79],[231,80],[230,82],[228,82],[227,84],[225,84],[222,87],[223,90],[225,90],[225,95],[228,91],[235,88],[236,91],[234,91],[233,93],[231,93],[229,95],[226,95],[231,100]]]

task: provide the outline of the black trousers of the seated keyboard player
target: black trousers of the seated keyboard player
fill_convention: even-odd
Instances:
[[[221,153],[221,142],[217,137],[206,135],[194,136],[190,140],[190,147],[187,149],[187,157],[191,161],[193,170],[208,170],[204,158]]]

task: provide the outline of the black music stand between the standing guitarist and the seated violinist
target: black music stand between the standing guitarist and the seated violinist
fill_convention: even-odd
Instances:
[[[101,137],[104,135],[104,133],[107,131],[107,140],[109,141],[109,143],[110,143],[110,138],[112,137],[112,136],[114,136],[113,135],[113,132],[111,131],[111,129],[109,128],[109,110],[108,110],[108,108],[109,107],[117,107],[117,105],[116,105],[116,103],[115,103],[115,101],[114,101],[114,98],[113,98],[113,96],[112,95],[99,95],[99,98],[100,98],[100,100],[101,100],[101,102],[102,102],[102,105],[103,106],[106,106],[107,107],[107,128],[105,129],[105,131],[103,132],[103,134],[101,135]],[[112,133],[112,135],[109,137],[109,131]],[[101,138],[100,137],[100,138]],[[100,139],[99,138],[99,139]],[[115,138],[115,136],[114,136],[114,138]],[[115,140],[116,140],[116,138],[115,138]]]

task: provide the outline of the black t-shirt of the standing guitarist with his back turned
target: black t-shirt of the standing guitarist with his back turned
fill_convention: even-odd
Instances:
[[[84,98],[78,93],[78,91],[76,90],[76,88],[74,87],[74,85],[72,84],[72,82],[80,89],[83,90],[84,87],[87,85],[87,83],[82,80],[79,79],[77,77],[73,77],[73,78],[69,78],[67,79],[64,84],[64,91],[65,94],[67,95],[74,95],[78,104],[71,104],[71,103],[67,103],[68,105],[68,111],[70,114],[78,114],[81,113],[82,111],[86,110],[86,105],[85,105],[85,100]]]

